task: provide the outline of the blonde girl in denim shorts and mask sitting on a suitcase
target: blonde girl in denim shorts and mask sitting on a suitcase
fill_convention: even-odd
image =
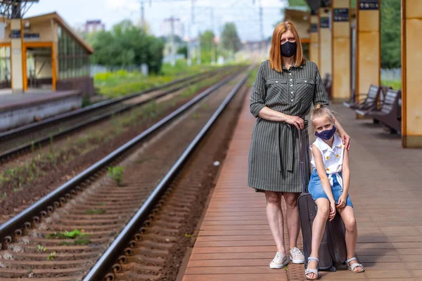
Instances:
[[[362,273],[364,266],[354,257],[357,241],[357,225],[354,218],[349,190],[350,169],[349,152],[341,138],[335,135],[333,113],[324,105],[317,104],[311,110],[311,122],[318,137],[311,146],[312,172],[308,190],[312,195],[318,212],[312,225],[312,251],[305,270],[308,280],[319,279],[319,245],[326,226],[327,218],[331,221],[338,211],[346,227],[347,268],[352,273]]]

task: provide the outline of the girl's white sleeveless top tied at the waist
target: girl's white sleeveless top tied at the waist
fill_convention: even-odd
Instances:
[[[316,148],[321,151],[322,162],[324,164],[324,168],[326,169],[330,185],[333,186],[333,175],[335,175],[343,190],[343,178],[341,178],[338,173],[343,169],[343,152],[345,147],[340,136],[334,135],[332,148],[330,148],[330,146],[327,145],[321,138],[316,138],[316,141],[314,141],[312,145],[315,145]],[[310,146],[312,155],[311,164],[312,167],[316,169],[314,155],[312,154],[312,145]]]

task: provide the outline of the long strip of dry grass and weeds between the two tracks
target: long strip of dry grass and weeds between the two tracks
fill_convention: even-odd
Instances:
[[[34,155],[29,162],[5,169],[3,174],[0,174],[0,185],[12,185],[11,190],[13,190],[14,193],[20,192],[25,188],[25,185],[32,183],[32,181],[40,176],[44,176],[45,172],[42,171],[43,166],[51,167],[51,164],[57,166],[58,163],[67,164],[75,159],[75,155],[84,155],[99,145],[111,141],[124,130],[133,126],[139,126],[139,124],[145,122],[146,119],[152,119],[157,115],[162,114],[168,107],[174,107],[180,100],[192,96],[204,87],[215,84],[219,79],[221,79],[221,77],[205,79],[198,84],[189,86],[181,92],[179,96],[175,96],[171,100],[167,100],[163,103],[155,103],[155,101],[152,101],[143,107],[139,107],[138,110],[129,112],[129,114],[113,117],[111,126],[108,129],[96,129],[75,140],[68,139],[68,144],[63,145],[61,150],[53,149],[53,138],[50,138],[49,149],[46,152],[42,152],[42,147],[39,145],[38,155]],[[31,150],[32,152],[36,152],[34,144],[32,144]],[[0,202],[6,199],[7,196],[6,192],[0,194]],[[93,211],[92,214],[103,214],[102,212],[105,211],[96,210]]]

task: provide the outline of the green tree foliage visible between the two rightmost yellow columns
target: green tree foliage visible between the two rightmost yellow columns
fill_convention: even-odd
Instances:
[[[400,0],[381,1],[381,67],[402,65]]]

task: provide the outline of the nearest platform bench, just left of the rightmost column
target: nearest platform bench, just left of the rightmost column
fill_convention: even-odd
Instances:
[[[388,126],[391,133],[397,133],[402,130],[402,110],[399,102],[402,92],[388,89],[385,93],[383,103],[380,110],[369,110],[366,116],[372,117],[374,120]],[[359,110],[355,110],[359,114]]]

